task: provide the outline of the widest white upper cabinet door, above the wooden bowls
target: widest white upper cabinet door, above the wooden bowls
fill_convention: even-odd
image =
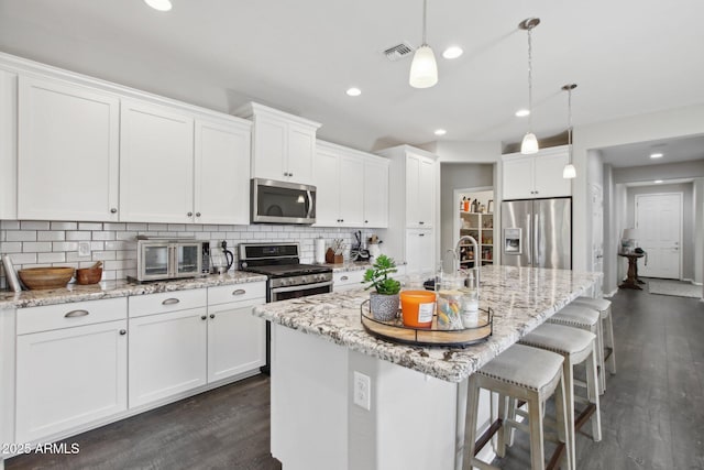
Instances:
[[[20,77],[18,217],[118,220],[118,98]]]

